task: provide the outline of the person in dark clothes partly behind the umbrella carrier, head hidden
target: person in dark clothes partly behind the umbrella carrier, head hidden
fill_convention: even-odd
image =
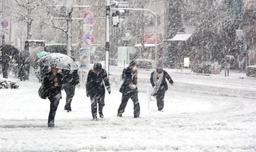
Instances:
[[[64,110],[70,112],[71,109],[71,102],[75,95],[76,85],[79,83],[79,75],[78,70],[62,70],[63,75],[63,88],[66,92],[66,105]]]

